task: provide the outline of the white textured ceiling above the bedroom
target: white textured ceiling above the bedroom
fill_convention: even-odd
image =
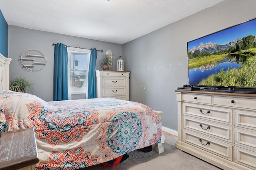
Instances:
[[[223,0],[0,0],[8,25],[124,44]]]

